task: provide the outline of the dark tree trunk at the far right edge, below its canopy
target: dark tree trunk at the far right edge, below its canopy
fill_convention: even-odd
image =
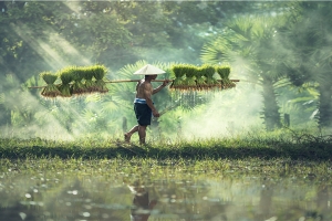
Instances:
[[[332,126],[331,81],[320,81],[319,92],[319,126],[320,128],[330,127]]]

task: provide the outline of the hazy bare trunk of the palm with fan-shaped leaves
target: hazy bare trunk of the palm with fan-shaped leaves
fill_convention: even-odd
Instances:
[[[273,90],[273,81],[268,76],[263,76],[262,78],[263,119],[266,124],[266,129],[273,130],[281,127],[277,95]]]

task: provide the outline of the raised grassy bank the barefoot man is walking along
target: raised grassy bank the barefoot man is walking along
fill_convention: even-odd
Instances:
[[[117,139],[80,139],[55,141],[46,139],[0,139],[0,157],[8,159],[291,159],[330,160],[331,136],[295,133],[248,134],[241,137],[201,140],[156,141],[146,146],[125,144]]]

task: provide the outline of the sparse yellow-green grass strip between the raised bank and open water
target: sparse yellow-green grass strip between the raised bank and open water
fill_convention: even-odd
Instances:
[[[71,158],[25,158],[25,159],[0,159],[0,172],[7,177],[33,173],[56,173],[68,176],[94,175],[111,176],[121,173],[126,177],[145,177],[153,175],[158,180],[165,175],[173,178],[186,179],[188,177],[214,179],[214,175],[224,177],[260,176],[269,178],[282,178],[297,176],[304,179],[315,178],[317,181],[332,180],[332,167],[330,161],[310,161],[291,159],[259,158],[218,159],[218,160],[187,160],[187,159],[142,159],[142,158],[114,158],[114,159],[82,159]],[[220,178],[220,177],[219,177]],[[216,177],[216,179],[219,179]],[[129,179],[129,178],[128,178]]]

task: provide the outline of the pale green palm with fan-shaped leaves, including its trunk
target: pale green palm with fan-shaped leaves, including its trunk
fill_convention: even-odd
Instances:
[[[282,61],[278,48],[278,28],[281,17],[242,17],[226,23],[221,36],[208,42],[201,52],[205,63],[228,62],[247,73],[248,81],[262,86],[262,115],[267,130],[281,127],[276,84],[283,73],[276,69]]]

